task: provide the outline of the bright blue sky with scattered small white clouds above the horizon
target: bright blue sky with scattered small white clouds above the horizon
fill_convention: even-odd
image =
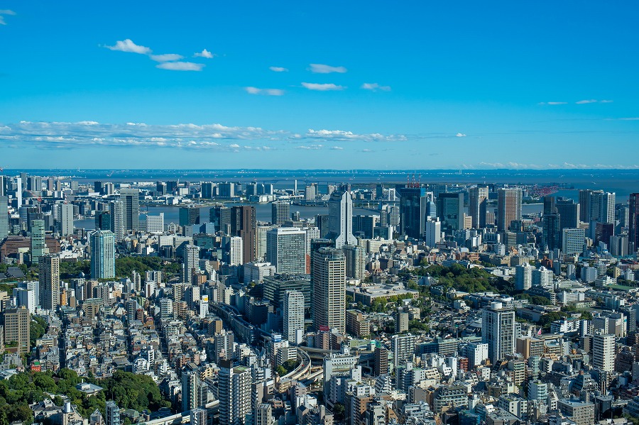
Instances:
[[[165,3],[5,2],[0,167],[637,166],[632,2]]]

